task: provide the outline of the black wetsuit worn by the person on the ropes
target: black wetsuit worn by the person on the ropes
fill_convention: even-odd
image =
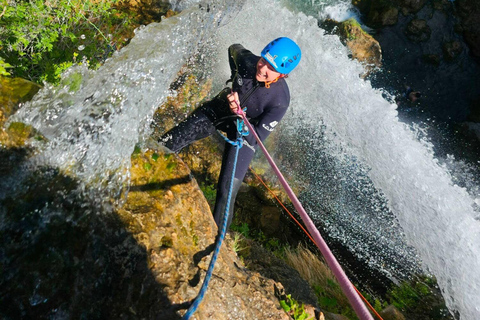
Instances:
[[[290,93],[287,83],[285,79],[281,78],[272,83],[270,88],[266,88],[264,82],[256,80],[256,65],[260,59],[259,56],[246,50],[240,44],[230,46],[228,53],[232,72],[232,90],[238,93],[240,106],[242,109],[247,108],[247,118],[263,141],[288,109]],[[234,141],[237,129],[227,102],[227,94],[230,92],[229,88],[222,90],[215,98],[202,104],[186,120],[164,134],[160,141],[164,142],[170,150],[178,152],[190,143],[213,134],[216,129],[225,132],[227,137]],[[235,171],[229,224],[232,219],[236,194],[252,161],[256,147],[257,142],[253,134],[244,137],[244,145],[239,151]],[[227,143],[223,153],[214,210],[217,225],[220,225],[225,212],[235,153],[235,147]]]

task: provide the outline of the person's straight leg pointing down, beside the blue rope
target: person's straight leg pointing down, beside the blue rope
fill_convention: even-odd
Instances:
[[[228,191],[230,189],[230,181],[235,161],[235,148],[236,147],[230,144],[226,144],[225,151],[223,153],[222,169],[220,171],[220,178],[218,180],[217,198],[215,202],[215,209],[213,211],[215,223],[219,228],[222,224],[223,216],[225,215],[225,210],[227,207]],[[233,181],[233,189],[230,199],[230,207],[228,211],[227,229],[232,223],[235,198],[240,186],[242,185],[243,178],[247,173],[248,166],[252,161],[254,154],[255,152],[245,145],[239,150],[237,168],[235,170],[235,178]]]

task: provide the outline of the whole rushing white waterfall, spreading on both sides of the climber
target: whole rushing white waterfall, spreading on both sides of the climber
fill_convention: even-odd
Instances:
[[[198,72],[211,74],[218,90],[229,75],[230,44],[258,53],[271,39],[289,36],[303,57],[287,80],[292,102],[280,136],[308,152],[282,152],[309,168],[299,179],[310,185],[303,197],[312,217],[325,219],[332,237],[363,259],[385,264],[392,278],[405,272],[396,265],[415,272],[418,253],[450,310],[480,318],[480,222],[473,208],[479,200],[452,182],[431,145],[359,77],[362,66],[349,60],[339,39],[292,3],[190,1],[180,15],[139,30],[98,71],[73,68],[65,79],[81,75],[78,90],[47,87],[16,115],[49,139],[33,165],[59,167],[115,194],[128,181],[134,145],[189,58],[200,57]]]

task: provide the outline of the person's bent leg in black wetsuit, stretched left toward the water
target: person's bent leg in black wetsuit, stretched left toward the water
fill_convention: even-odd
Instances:
[[[165,133],[159,142],[173,152],[178,152],[192,142],[206,138],[215,132],[215,127],[202,107],[195,109],[187,119]]]

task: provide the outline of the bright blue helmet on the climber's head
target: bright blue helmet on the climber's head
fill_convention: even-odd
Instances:
[[[262,50],[261,56],[277,72],[288,74],[300,62],[302,51],[292,39],[281,37],[267,44]]]

